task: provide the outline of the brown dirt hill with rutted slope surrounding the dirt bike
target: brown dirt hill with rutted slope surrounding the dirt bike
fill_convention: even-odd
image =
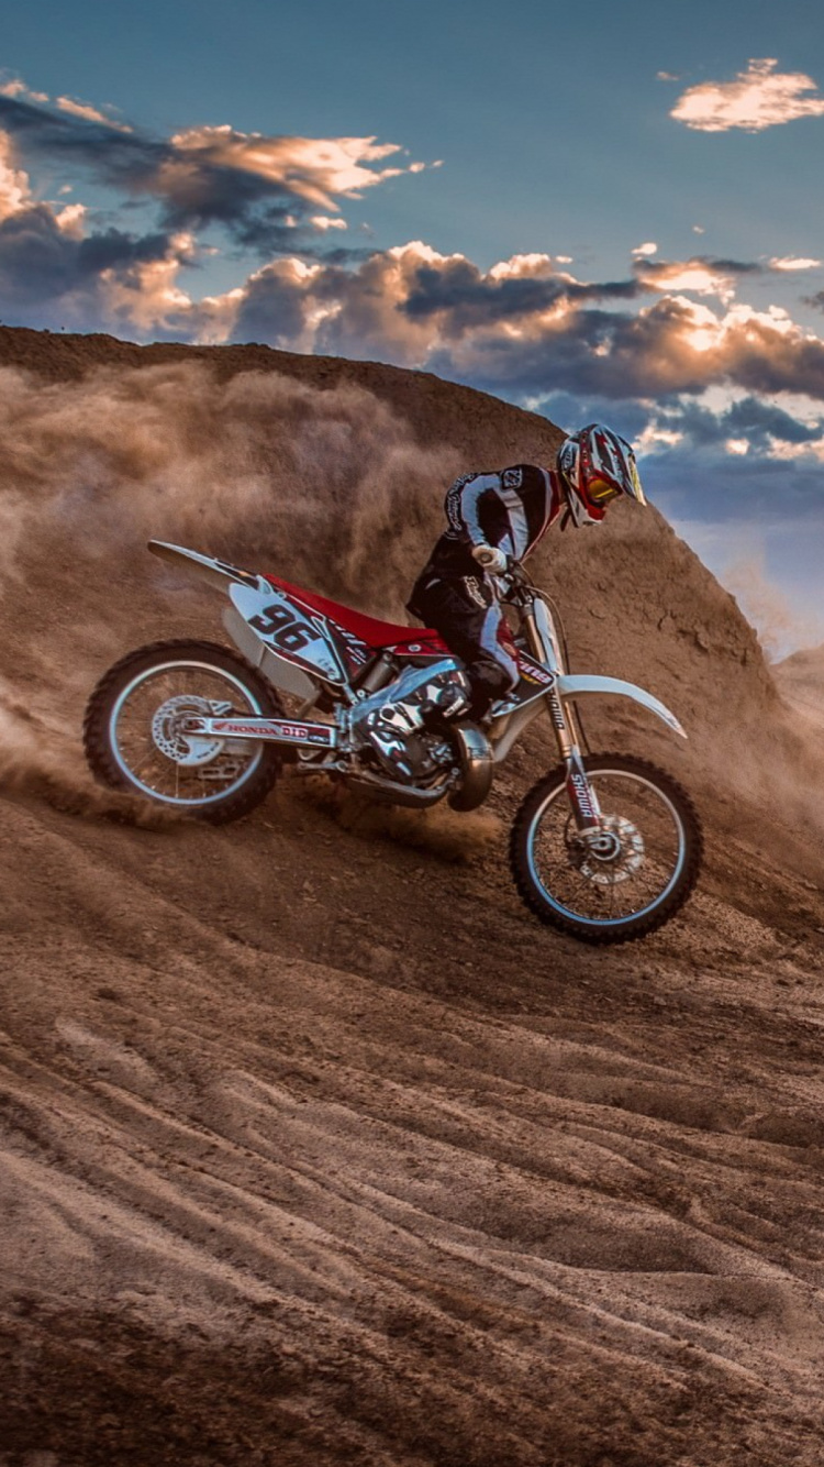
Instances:
[[[691,734],[591,742],[708,827],[685,912],[592,952],[504,866],[538,734],[471,817],[284,782],[223,832],[78,753],[116,656],[218,635],[148,535],[400,616],[449,480],[553,425],[9,329],[0,389],[0,1464],[818,1464],[824,770],[735,601],[655,511],[541,552],[575,666]]]

